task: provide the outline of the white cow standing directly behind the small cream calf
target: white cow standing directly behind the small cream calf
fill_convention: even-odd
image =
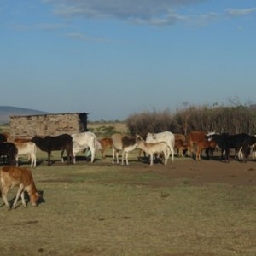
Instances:
[[[172,154],[172,162],[174,160],[174,144],[175,137],[171,131],[163,131],[159,133],[150,133],[148,132],[146,137],[146,143],[166,143],[169,146],[169,149]],[[170,155],[170,154],[169,154]]]

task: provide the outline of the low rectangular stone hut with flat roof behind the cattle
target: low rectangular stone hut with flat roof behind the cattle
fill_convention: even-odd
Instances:
[[[87,131],[87,113],[58,113],[10,117],[10,137],[32,138]]]

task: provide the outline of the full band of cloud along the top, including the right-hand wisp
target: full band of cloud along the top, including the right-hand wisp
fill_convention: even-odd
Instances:
[[[53,13],[68,19],[117,19],[139,25],[171,26],[184,23],[205,26],[226,17],[250,15],[256,8],[226,9],[219,13],[193,14],[188,7],[209,0],[43,0],[53,6]]]

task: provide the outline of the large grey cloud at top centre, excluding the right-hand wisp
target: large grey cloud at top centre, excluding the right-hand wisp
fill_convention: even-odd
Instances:
[[[208,0],[44,0],[54,14],[66,18],[113,18],[137,24],[166,26],[187,20],[178,9]]]

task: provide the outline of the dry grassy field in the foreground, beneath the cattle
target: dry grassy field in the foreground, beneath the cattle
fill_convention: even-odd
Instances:
[[[256,255],[255,186],[160,185],[166,177],[136,154],[128,167],[47,166],[39,153],[32,172],[44,202],[8,211],[1,201],[1,255]]]

